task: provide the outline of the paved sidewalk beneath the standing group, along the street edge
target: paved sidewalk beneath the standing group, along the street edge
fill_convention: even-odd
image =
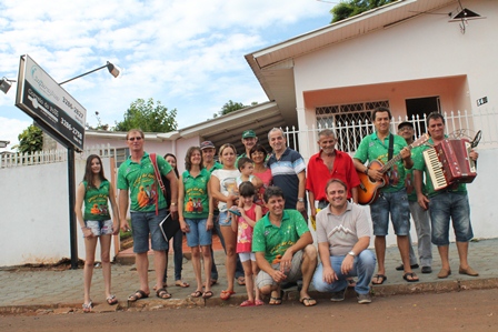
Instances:
[[[217,247],[216,247],[217,248]],[[458,274],[458,253],[455,243],[450,244],[450,263],[452,274],[448,279],[440,280],[437,273],[440,269],[440,261],[437,249],[434,249],[434,264],[431,274],[421,274],[420,269],[414,270],[420,279],[420,282],[408,283],[402,280],[402,272],[396,271],[395,266],[399,264],[399,252],[396,247],[388,248],[386,251],[386,271],[387,281],[382,285],[374,286],[375,296],[387,296],[394,294],[412,294],[424,292],[450,292],[467,289],[490,289],[498,288],[498,239],[480,240],[471,242],[469,247],[469,262],[471,266],[479,272],[479,276],[472,278]],[[415,248],[416,250],[416,248]],[[417,252],[417,250],[416,250]],[[94,312],[128,310],[155,310],[160,308],[191,308],[205,305],[231,304],[238,305],[246,298],[246,288],[236,283],[236,294],[229,301],[222,301],[219,295],[221,290],[227,286],[225,274],[225,252],[215,251],[218,273],[220,275],[218,284],[213,285],[215,296],[209,300],[191,299],[189,295],[196,290],[192,264],[183,259],[183,281],[190,283],[189,288],[179,288],[173,284],[173,263],[172,254],[169,254],[168,291],[172,294],[170,300],[156,298],[151,292],[150,298],[128,303],[128,296],[138,289],[138,275],[135,265],[112,264],[112,292],[119,300],[118,305],[110,306],[104,301],[103,281],[101,269],[96,269],[92,281],[92,299]],[[152,291],[153,286],[153,256],[149,255],[149,284]],[[0,314],[2,313],[64,313],[71,311],[81,311],[83,296],[82,269],[66,271],[19,271],[17,269],[0,270]],[[347,298],[355,296],[352,290],[348,291]],[[311,291],[311,295],[321,299],[319,302],[328,301],[330,298],[326,293]],[[374,296],[374,304],[375,304]],[[297,300],[299,294],[297,289],[292,288],[286,291],[283,300]],[[348,299],[347,299],[348,301]],[[351,299],[352,301],[352,299]]]

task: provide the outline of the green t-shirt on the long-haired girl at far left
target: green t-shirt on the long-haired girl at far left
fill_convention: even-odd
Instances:
[[[84,220],[109,220],[109,187],[107,180],[100,182],[99,188],[88,188],[87,181],[84,185]]]

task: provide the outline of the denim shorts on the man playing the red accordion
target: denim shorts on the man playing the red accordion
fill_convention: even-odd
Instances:
[[[434,244],[449,244],[450,218],[455,229],[455,238],[458,242],[468,242],[474,238],[467,194],[441,192],[430,198],[429,212],[432,223]]]

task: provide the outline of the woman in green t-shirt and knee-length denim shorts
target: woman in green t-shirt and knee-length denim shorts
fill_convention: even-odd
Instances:
[[[185,157],[186,171],[178,181],[178,215],[187,244],[192,250],[192,266],[197,289],[192,298],[209,299],[211,291],[211,230],[213,207],[209,188],[210,173],[202,165],[202,152],[191,147]],[[199,250],[200,247],[200,250]],[[206,290],[202,292],[200,252],[205,262]]]

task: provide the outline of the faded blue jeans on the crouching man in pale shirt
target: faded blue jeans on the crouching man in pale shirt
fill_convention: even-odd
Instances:
[[[368,294],[368,292],[370,292],[370,281],[374,275],[374,271],[376,270],[376,256],[370,250],[366,249],[355,258],[352,270],[349,274],[342,274],[340,271],[340,266],[345,260],[343,255],[333,255],[329,259],[338,280],[332,283],[325,282],[323,264],[318,264],[312,279],[313,286],[317,291],[331,293],[341,291],[348,286],[347,278],[358,276],[355,291],[358,294]]]

